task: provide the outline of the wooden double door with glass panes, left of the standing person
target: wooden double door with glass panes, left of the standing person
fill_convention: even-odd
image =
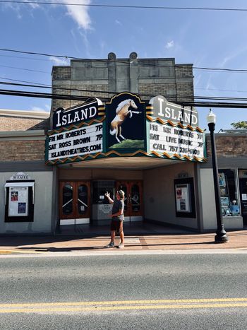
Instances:
[[[60,219],[90,218],[89,181],[61,181],[59,191]]]

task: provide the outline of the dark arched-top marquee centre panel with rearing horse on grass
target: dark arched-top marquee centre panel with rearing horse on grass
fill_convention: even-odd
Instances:
[[[145,102],[121,93],[107,103],[108,148],[144,148]]]

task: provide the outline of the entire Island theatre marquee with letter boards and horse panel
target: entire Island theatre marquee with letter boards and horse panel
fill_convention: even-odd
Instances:
[[[101,117],[100,117],[101,116]],[[105,107],[97,98],[54,112],[46,141],[47,164],[110,157],[158,157],[204,162],[205,132],[198,113],[155,96],[146,103],[123,92]]]

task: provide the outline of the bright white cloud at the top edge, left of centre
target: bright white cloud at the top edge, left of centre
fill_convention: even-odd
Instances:
[[[63,0],[66,4],[91,4],[91,0]],[[88,14],[88,6],[66,6],[68,15],[76,21],[79,28],[83,28],[84,30],[91,29],[91,18]]]

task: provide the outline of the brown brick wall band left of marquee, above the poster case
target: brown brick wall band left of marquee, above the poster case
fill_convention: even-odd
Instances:
[[[43,141],[1,141],[0,155],[1,161],[24,161],[24,160],[44,160],[44,140]]]

